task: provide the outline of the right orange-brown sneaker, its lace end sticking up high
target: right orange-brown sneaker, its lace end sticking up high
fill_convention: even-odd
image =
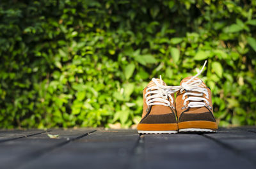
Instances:
[[[198,75],[180,82],[175,101],[179,132],[216,132],[218,129],[212,112],[211,90]]]

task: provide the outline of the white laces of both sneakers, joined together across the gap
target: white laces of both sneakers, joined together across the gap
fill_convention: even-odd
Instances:
[[[172,93],[180,91],[181,93],[186,90],[186,92],[183,94],[182,99],[184,100],[183,105],[185,108],[191,107],[204,107],[209,105],[209,93],[207,89],[204,87],[200,87],[202,84],[202,80],[198,79],[193,82],[191,82],[194,78],[198,77],[202,71],[204,70],[205,64],[207,61],[204,62],[204,66],[202,69],[192,78],[190,78],[187,82],[183,82],[181,85],[178,86],[166,86],[162,85],[162,78],[160,76],[161,84],[159,84],[156,80],[156,78],[152,78],[152,81],[156,84],[154,87],[149,87],[146,90],[145,98],[146,103],[148,106],[150,105],[164,105],[166,107],[173,107],[173,105],[170,104],[170,101],[168,101],[168,97],[171,99],[171,103],[173,104],[173,98],[171,96]],[[192,92],[188,92],[192,91]],[[198,93],[195,93],[198,92]],[[204,96],[205,98],[202,98]],[[150,96],[149,96],[150,95]],[[190,97],[185,97],[189,95]],[[187,101],[189,101],[189,104],[187,105]],[[174,108],[174,107],[173,107]]]

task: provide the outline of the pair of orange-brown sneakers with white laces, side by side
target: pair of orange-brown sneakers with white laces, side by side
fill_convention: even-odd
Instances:
[[[211,90],[198,78],[202,70],[194,77],[184,78],[179,86],[168,86],[161,77],[152,78],[143,90],[143,114],[138,133],[216,132]]]

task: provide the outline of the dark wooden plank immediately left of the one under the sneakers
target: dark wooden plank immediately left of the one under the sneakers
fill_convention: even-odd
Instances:
[[[134,130],[97,131],[23,168],[128,168],[138,137]]]

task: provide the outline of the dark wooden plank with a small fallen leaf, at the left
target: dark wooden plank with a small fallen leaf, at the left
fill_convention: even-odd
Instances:
[[[28,161],[40,158],[47,152],[54,151],[69,142],[88,135],[92,129],[52,129],[51,135],[60,135],[59,139],[52,139],[48,133],[10,140],[0,144],[0,163],[4,168],[19,168]],[[0,167],[1,168],[1,167]]]

